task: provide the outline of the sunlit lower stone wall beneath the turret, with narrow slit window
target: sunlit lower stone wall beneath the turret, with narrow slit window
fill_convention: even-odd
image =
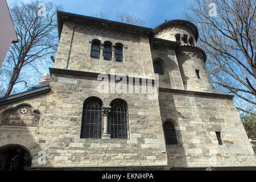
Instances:
[[[178,144],[167,145],[168,164],[175,167],[255,166],[236,107],[230,98],[159,93],[162,122],[171,119]],[[222,145],[216,131],[221,132]]]

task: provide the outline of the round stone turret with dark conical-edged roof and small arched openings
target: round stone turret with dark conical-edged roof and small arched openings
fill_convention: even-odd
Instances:
[[[185,90],[213,91],[205,66],[207,57],[203,49],[196,46],[199,32],[195,24],[186,20],[170,20],[156,27],[154,36],[180,43],[175,53]]]

